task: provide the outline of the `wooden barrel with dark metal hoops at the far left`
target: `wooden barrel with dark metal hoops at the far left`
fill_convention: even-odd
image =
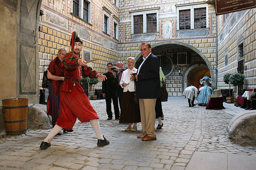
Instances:
[[[20,135],[27,132],[28,99],[3,99],[6,135]]]

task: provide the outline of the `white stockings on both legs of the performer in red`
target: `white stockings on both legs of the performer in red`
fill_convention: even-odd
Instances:
[[[100,123],[98,121],[98,119],[93,119],[90,120],[91,126],[93,126],[93,129],[97,135],[98,139],[103,140],[102,134],[101,134],[101,130],[100,130]],[[49,143],[51,141],[51,139],[57,134],[59,133],[63,128],[61,128],[60,126],[58,126],[57,124],[55,124],[53,130],[48,134],[48,136],[44,139],[44,142]]]

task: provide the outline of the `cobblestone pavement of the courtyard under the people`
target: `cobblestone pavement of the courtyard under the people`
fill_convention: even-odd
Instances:
[[[256,147],[243,147],[228,139],[226,126],[232,115],[223,110],[188,107],[187,99],[169,97],[162,102],[163,128],[157,140],[141,141],[137,132],[125,132],[128,124],[106,121],[105,101],[91,101],[100,119],[102,134],[110,145],[97,147],[90,123],[77,120],[74,132],[52,139],[52,146],[39,149],[51,130],[28,130],[26,134],[0,138],[0,169],[36,170],[184,170],[195,151],[256,154]],[[158,122],[156,120],[157,126]]]

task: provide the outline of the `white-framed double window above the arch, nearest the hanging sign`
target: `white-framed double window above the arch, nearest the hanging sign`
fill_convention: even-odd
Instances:
[[[208,5],[177,7],[177,18],[179,30],[208,28]]]

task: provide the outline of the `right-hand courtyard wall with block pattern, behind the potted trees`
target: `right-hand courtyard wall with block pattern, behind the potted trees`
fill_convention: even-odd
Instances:
[[[225,21],[225,22],[224,22]],[[218,87],[228,88],[223,82],[226,73],[236,73],[238,61],[244,60],[244,88],[256,85],[256,8],[218,16]],[[244,44],[244,57],[239,57],[238,45]],[[225,58],[226,56],[226,58]],[[226,61],[226,63],[225,63]],[[232,87],[234,96],[237,87]]]

